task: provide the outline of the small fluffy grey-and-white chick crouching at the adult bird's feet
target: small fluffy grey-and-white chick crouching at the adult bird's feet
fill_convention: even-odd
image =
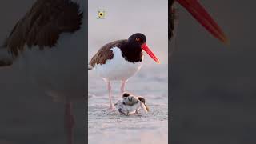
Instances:
[[[118,100],[114,106],[118,109],[120,114],[126,115],[138,114],[140,110],[142,110],[144,114],[149,111],[148,106],[146,106],[145,98],[130,93],[122,94],[122,99]]]

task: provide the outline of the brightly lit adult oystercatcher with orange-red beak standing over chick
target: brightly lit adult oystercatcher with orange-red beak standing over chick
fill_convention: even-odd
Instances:
[[[123,94],[128,78],[136,74],[142,66],[142,50],[146,51],[155,62],[160,63],[146,45],[146,36],[140,33],[132,34],[128,39],[107,43],[91,58],[88,70],[95,70],[107,83],[109,110],[114,109],[110,81],[121,81],[121,93]]]

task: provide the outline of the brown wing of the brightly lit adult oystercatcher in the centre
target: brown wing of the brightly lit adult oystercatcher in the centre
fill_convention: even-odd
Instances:
[[[90,66],[94,67],[96,64],[105,64],[108,59],[112,59],[114,57],[114,54],[110,49],[115,46],[120,48],[120,46],[122,46],[125,42],[127,42],[127,40],[123,39],[110,42],[102,46],[102,48],[98,50],[94,57],[91,58],[89,62]]]

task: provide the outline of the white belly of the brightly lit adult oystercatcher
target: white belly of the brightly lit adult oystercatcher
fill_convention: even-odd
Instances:
[[[94,70],[102,78],[108,80],[127,80],[140,70],[142,62],[128,62],[122,57],[122,52],[118,47],[111,49],[114,53],[114,58],[107,60],[105,64],[97,64]]]

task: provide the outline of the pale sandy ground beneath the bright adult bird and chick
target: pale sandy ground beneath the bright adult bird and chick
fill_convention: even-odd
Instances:
[[[149,72],[150,71],[150,72]],[[125,116],[109,106],[106,83],[89,72],[89,143],[168,143],[167,65],[142,66],[126,85],[126,91],[142,95],[150,111],[146,115]],[[114,102],[121,98],[120,83],[112,83]]]

